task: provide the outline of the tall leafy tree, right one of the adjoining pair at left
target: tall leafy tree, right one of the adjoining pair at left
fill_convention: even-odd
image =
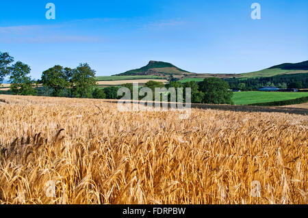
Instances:
[[[75,98],[92,98],[92,90],[96,85],[95,70],[89,64],[79,64],[71,75],[72,94]]]

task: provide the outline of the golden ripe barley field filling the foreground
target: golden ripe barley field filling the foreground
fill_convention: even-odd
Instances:
[[[307,115],[0,95],[1,204],[307,204]]]

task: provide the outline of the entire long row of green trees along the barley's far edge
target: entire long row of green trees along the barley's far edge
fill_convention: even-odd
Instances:
[[[89,64],[79,64],[76,68],[64,68],[63,66],[53,66],[42,72],[40,80],[35,81],[29,76],[31,68],[22,62],[14,62],[14,58],[8,53],[0,52],[0,83],[4,77],[10,77],[10,91],[16,95],[38,95],[38,96],[53,96],[53,97],[69,97],[69,98],[107,98],[119,99],[118,89],[120,86],[114,87],[97,87],[95,79],[95,70],[90,68]],[[171,81],[164,83],[157,81],[148,81],[144,84],[145,87],[151,88],[155,93],[155,87],[182,87],[191,88],[192,103],[209,103],[209,104],[233,104],[229,83],[218,78],[207,78],[202,82],[196,83],[189,81],[181,83],[179,81]],[[127,83],[122,85],[127,87],[133,93],[133,84]],[[141,87],[138,87],[140,90]],[[168,95],[170,93],[162,93]],[[144,96],[139,96],[142,99]],[[132,96],[131,96],[132,98]],[[154,100],[154,99],[153,99]]]

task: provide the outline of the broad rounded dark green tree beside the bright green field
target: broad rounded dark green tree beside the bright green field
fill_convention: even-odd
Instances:
[[[202,103],[205,104],[233,104],[229,83],[215,77],[205,78],[199,83],[199,90],[204,93]]]

